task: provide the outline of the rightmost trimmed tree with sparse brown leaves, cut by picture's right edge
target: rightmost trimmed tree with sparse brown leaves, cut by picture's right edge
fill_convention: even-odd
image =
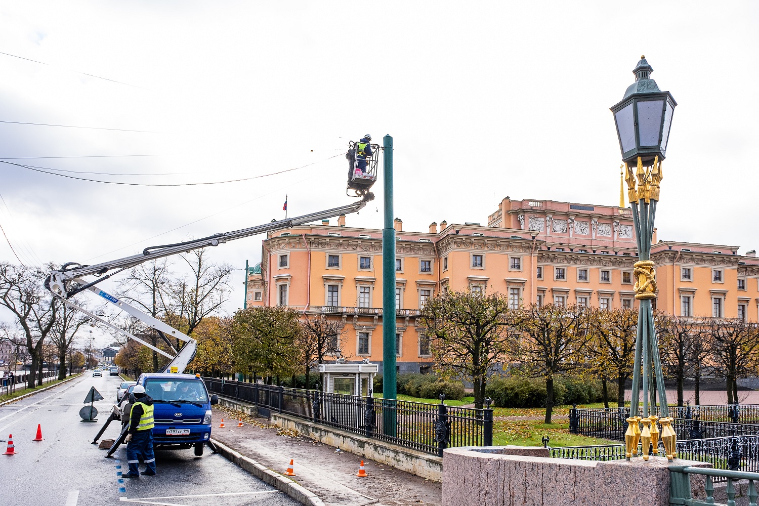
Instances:
[[[727,383],[727,404],[738,402],[738,380],[755,376],[759,365],[759,332],[753,323],[739,319],[709,319],[710,371]]]

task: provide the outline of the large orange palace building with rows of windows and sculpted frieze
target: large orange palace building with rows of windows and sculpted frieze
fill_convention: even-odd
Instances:
[[[431,360],[420,308],[435,294],[498,291],[512,307],[636,305],[638,259],[630,209],[507,196],[480,223],[404,231],[395,219],[395,335],[398,372]],[[657,241],[656,307],[682,316],[759,320],[759,259],[738,247]],[[348,361],[382,366],[382,230],[302,225],[269,234],[262,262],[248,271],[247,306],[292,306],[339,319]]]

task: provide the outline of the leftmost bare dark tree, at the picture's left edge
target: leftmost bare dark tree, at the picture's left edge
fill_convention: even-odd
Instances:
[[[52,270],[54,266],[46,266]],[[46,272],[39,268],[14,266],[0,262],[0,306],[5,306],[16,318],[15,324],[24,336],[31,357],[31,372],[39,380],[43,374],[43,346],[52,331],[59,302],[43,288]],[[36,386],[35,374],[29,375],[27,388]]]

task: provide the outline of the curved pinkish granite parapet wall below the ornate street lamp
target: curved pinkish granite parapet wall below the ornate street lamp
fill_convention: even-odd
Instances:
[[[664,457],[598,462],[505,454],[510,450],[446,449],[442,506],[669,505],[669,463]],[[711,467],[692,460],[673,464]],[[691,487],[694,498],[705,497],[703,476],[691,476]]]

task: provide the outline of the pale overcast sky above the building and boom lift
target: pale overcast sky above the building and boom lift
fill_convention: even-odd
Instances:
[[[0,225],[25,263],[92,263],[282,218],[285,194],[289,215],[339,206],[351,202],[339,155],[367,133],[394,137],[405,230],[484,225],[506,195],[616,205],[609,107],[646,55],[678,102],[659,237],[745,253],[759,247],[757,11],[756,2],[0,2],[0,121],[145,130],[0,123],[0,158],[107,156],[8,161],[142,184],[313,163],[195,187],[0,164]],[[382,227],[381,186],[349,226]],[[243,269],[260,247],[260,237],[240,240],[213,259]],[[0,259],[17,261],[3,237]],[[243,272],[233,281],[229,312],[242,305]]]

